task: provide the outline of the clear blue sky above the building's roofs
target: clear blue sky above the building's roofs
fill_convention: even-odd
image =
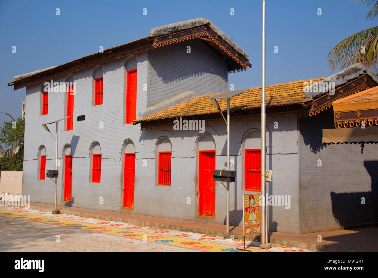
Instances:
[[[266,0],[266,85],[329,76],[327,54],[376,21],[352,0]],[[231,73],[235,89],[261,86],[262,2],[0,0],[0,111],[21,116],[25,88],[13,76],[64,64],[150,35],[150,29],[205,17],[249,54],[252,68]],[[56,8],[60,15],[56,15]],[[147,16],[143,16],[147,8]],[[234,8],[235,15],[230,15]],[[318,8],[322,15],[318,16]],[[17,53],[12,53],[12,46]],[[278,53],[273,53],[278,46]],[[27,105],[27,104],[26,104]],[[10,117],[0,114],[0,124]]]

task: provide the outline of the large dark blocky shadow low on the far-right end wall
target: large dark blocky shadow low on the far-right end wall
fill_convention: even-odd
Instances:
[[[372,191],[331,192],[332,215],[344,229],[378,223],[378,160],[364,161],[364,166],[372,180]]]

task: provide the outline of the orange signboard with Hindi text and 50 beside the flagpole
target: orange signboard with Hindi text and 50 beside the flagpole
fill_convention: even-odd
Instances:
[[[261,233],[260,193],[243,195],[244,236]]]

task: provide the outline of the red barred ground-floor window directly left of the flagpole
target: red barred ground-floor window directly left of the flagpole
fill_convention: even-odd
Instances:
[[[245,191],[261,190],[261,149],[245,150]]]

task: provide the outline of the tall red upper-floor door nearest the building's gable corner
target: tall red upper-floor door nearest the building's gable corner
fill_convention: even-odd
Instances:
[[[136,119],[136,69],[127,71],[126,81],[126,123]]]

